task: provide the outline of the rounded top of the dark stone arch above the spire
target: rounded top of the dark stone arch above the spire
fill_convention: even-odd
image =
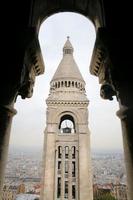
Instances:
[[[59,12],[74,12],[81,14],[93,23],[96,30],[104,25],[103,8],[101,2],[98,0],[90,0],[89,2],[88,0],[85,0],[82,3],[78,0],[75,0],[74,3],[72,3],[72,1],[67,3],[65,3],[65,1],[63,3],[60,1],[49,1],[49,3],[46,3],[46,1],[43,0],[35,1],[31,13],[33,16],[30,23],[37,28],[37,31],[39,31],[44,20]]]

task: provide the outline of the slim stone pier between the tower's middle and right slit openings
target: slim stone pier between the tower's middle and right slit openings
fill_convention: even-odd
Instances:
[[[68,163],[68,200],[72,200],[72,149],[69,149]]]

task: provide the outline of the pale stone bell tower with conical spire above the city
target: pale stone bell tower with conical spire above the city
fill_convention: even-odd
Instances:
[[[43,200],[92,200],[85,82],[67,37],[46,100]]]

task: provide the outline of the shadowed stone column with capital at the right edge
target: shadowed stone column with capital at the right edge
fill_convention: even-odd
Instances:
[[[128,200],[133,199],[133,107],[120,105],[117,116],[121,119]]]

